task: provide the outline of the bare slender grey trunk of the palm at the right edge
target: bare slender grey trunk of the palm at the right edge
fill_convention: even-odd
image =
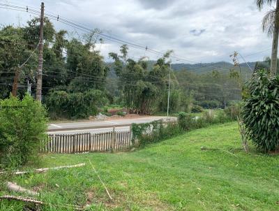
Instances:
[[[276,15],[273,31],[272,52],[271,52],[271,75],[277,72],[277,52],[278,52],[278,36],[279,36],[279,0],[276,2]]]

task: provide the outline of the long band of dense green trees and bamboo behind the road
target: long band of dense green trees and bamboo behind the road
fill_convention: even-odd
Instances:
[[[20,98],[24,96],[27,81],[35,93],[39,24],[39,19],[34,18],[26,27],[1,27],[0,99],[9,96],[18,65],[31,52],[34,53],[29,61],[19,70],[21,86],[17,93]],[[52,119],[86,118],[96,115],[97,108],[113,103],[140,114],[167,111],[171,51],[157,61],[145,57],[135,61],[129,57],[128,46],[122,45],[119,54],[110,53],[114,62],[106,63],[96,49],[96,43],[101,42],[98,29],[76,38],[68,31],[56,31],[45,18],[44,31],[43,103]],[[239,101],[241,94],[235,81],[222,71],[222,68],[235,67],[218,65],[220,69],[212,70],[210,64],[205,67],[173,64],[169,112],[191,112],[195,106],[225,108]],[[96,93],[101,93],[102,99]]]

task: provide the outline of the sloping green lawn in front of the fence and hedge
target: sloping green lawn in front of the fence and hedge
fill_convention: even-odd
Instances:
[[[219,150],[201,150],[201,147]],[[93,172],[98,170],[114,202]],[[279,157],[241,147],[237,124],[191,131],[127,153],[47,154],[41,167],[86,162],[82,168],[2,178],[40,190],[43,210],[279,210]],[[8,194],[3,184],[0,194]],[[22,210],[3,201],[0,210]]]

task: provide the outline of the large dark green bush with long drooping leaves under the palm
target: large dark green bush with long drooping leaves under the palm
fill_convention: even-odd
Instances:
[[[279,150],[279,78],[258,71],[247,87],[250,96],[241,108],[246,137],[265,152]]]

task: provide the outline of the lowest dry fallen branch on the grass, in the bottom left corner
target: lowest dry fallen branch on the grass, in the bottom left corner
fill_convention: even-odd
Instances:
[[[23,201],[23,202],[27,202],[27,203],[34,203],[36,205],[52,205],[50,203],[45,203],[43,201],[38,201],[35,198],[27,198],[27,197],[22,197],[22,196],[9,196],[9,195],[5,195],[5,196],[0,196],[0,201],[6,199],[6,200],[15,200],[15,201]],[[54,207],[63,207],[63,208],[74,208],[75,210],[84,210],[84,208],[77,206],[77,205],[53,205]]]

